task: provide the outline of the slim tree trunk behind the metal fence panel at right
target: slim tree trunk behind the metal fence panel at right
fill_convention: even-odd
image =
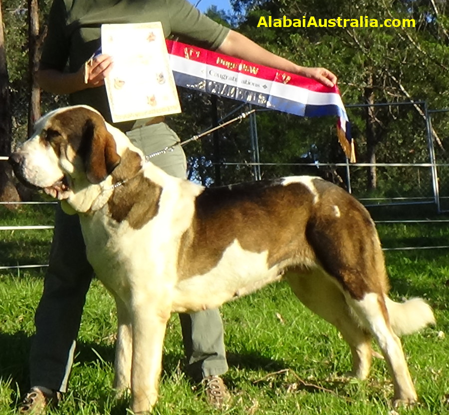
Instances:
[[[374,104],[374,88],[373,75],[370,73],[368,77],[367,86],[365,87],[365,102],[368,105]],[[374,132],[374,123],[376,121],[375,107],[366,107],[366,151],[367,162],[376,163],[376,134]],[[368,168],[367,189],[373,190],[377,186],[377,171],[376,166]]]

